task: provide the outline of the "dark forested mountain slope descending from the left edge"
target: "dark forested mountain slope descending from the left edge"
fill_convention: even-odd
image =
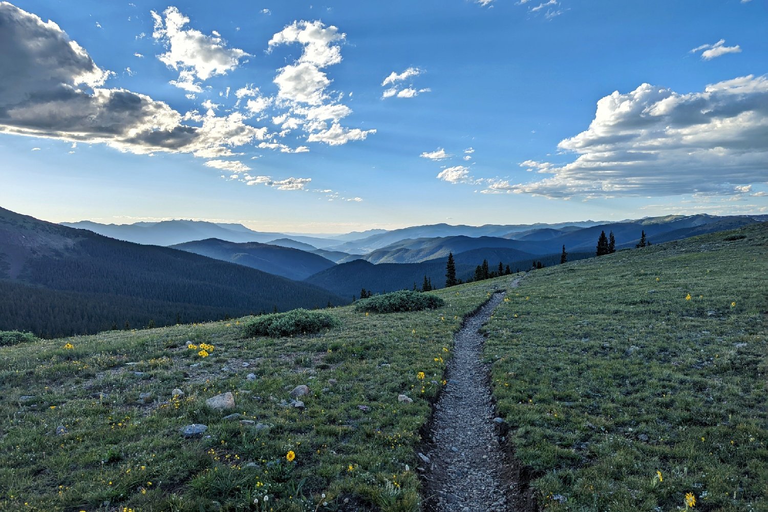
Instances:
[[[329,302],[349,299],[247,266],[0,208],[0,330],[71,335]]]

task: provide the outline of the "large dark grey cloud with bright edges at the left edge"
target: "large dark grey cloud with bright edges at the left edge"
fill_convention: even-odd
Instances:
[[[208,158],[231,155],[232,147],[266,137],[266,128],[244,124],[242,114],[186,118],[145,94],[101,87],[110,72],[98,68],[53,21],[2,2],[0,25],[2,133]]]

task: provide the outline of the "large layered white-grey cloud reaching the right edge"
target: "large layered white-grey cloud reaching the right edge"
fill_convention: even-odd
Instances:
[[[733,78],[680,94],[650,84],[598,101],[588,130],[558,147],[569,164],[527,160],[551,175],[531,183],[490,180],[488,191],[545,197],[740,193],[766,180],[768,79]]]

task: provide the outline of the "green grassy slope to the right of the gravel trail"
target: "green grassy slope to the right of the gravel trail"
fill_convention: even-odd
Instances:
[[[485,355],[541,507],[678,510],[692,493],[695,510],[768,510],[766,249],[752,226],[511,291]]]

